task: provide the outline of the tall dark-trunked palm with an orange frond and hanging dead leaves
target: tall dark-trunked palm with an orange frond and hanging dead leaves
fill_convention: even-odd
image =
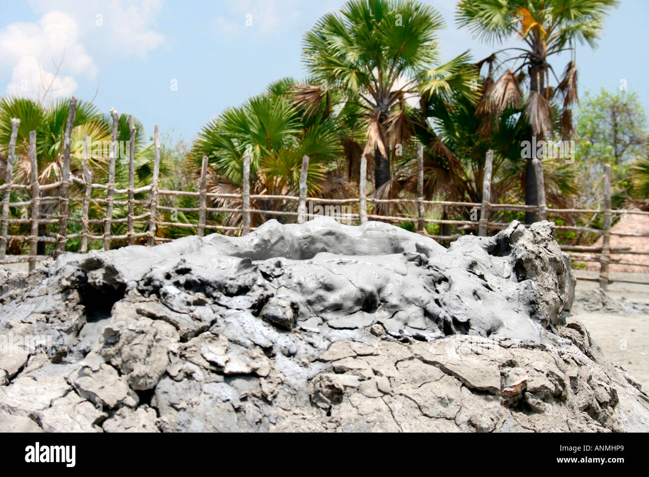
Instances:
[[[523,47],[506,48],[485,58],[489,74],[483,83],[484,96],[478,108],[487,120],[508,107],[518,107],[523,101],[522,84],[528,80],[528,94],[524,116],[529,125],[528,140],[552,139],[554,99],[563,99],[559,129],[563,140],[574,133],[571,106],[577,101],[577,69],[575,43],[596,47],[604,28],[608,11],[617,6],[617,0],[461,0],[457,7],[460,27],[469,27],[476,38],[487,42],[503,42],[516,36]],[[515,51],[496,64],[498,54]],[[548,58],[562,51],[571,51],[572,57],[559,80]],[[519,62],[520,60],[520,62]],[[518,64],[518,66],[517,66]],[[494,66],[495,65],[495,66]],[[507,68],[504,68],[508,65]],[[525,70],[525,68],[527,68]],[[500,73],[498,80],[493,75]],[[550,86],[550,72],[556,87]],[[488,132],[489,128],[485,128]],[[526,164],[525,202],[537,204],[537,182],[532,164],[536,151]],[[526,223],[535,219],[526,213]]]

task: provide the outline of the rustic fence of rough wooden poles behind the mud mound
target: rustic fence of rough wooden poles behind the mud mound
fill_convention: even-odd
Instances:
[[[310,213],[307,210],[307,202],[317,204],[325,204],[325,206],[351,206],[354,208],[358,206],[358,213],[347,213],[342,217],[346,220],[353,220],[355,223],[364,223],[368,220],[380,220],[387,222],[403,223],[410,221],[415,225],[415,230],[419,233],[426,232],[426,223],[434,223],[438,225],[456,225],[464,226],[477,230],[480,236],[486,236],[488,230],[502,230],[509,226],[508,223],[498,223],[489,221],[491,212],[493,211],[517,211],[517,212],[536,212],[539,220],[546,219],[547,215],[565,215],[565,214],[604,214],[604,229],[599,230],[596,228],[587,228],[580,226],[556,226],[557,230],[570,231],[570,232],[589,232],[591,234],[599,234],[603,236],[602,247],[591,247],[582,245],[561,245],[563,251],[569,252],[574,260],[585,262],[600,262],[600,275],[598,278],[593,277],[578,277],[584,280],[598,281],[600,287],[606,289],[607,285],[611,282],[609,280],[609,263],[611,263],[611,253],[615,254],[644,254],[648,255],[649,252],[633,251],[630,248],[611,248],[610,238],[612,235],[617,236],[643,236],[649,237],[649,233],[624,233],[614,232],[611,230],[614,214],[642,214],[649,215],[649,212],[637,211],[624,211],[611,209],[611,168],[606,165],[604,174],[604,209],[603,210],[585,210],[585,209],[548,209],[545,201],[545,188],[543,184],[543,175],[537,174],[539,178],[538,190],[538,206],[526,206],[521,204],[492,204],[491,200],[491,171],[493,165],[493,151],[489,151],[485,160],[485,173],[484,183],[482,190],[482,203],[472,202],[452,202],[452,201],[426,201],[423,197],[424,190],[424,163],[423,163],[423,150],[422,146],[417,147],[417,198],[416,199],[376,199],[368,197],[367,195],[367,160],[365,156],[361,157],[360,164],[360,181],[358,198],[354,199],[323,199],[317,197],[308,197],[306,188],[306,179],[309,158],[304,156],[302,158],[302,169],[299,179],[299,196],[291,195],[251,195],[250,193],[250,156],[246,153],[243,157],[243,184],[241,194],[234,193],[210,193],[207,191],[207,175],[208,175],[208,158],[203,156],[201,164],[201,176],[199,181],[199,191],[175,191],[163,190],[158,188],[158,179],[160,175],[160,139],[158,134],[158,125],[154,130],[154,168],[153,180],[150,185],[134,188],[134,139],[136,130],[134,128],[133,117],[129,117],[130,128],[130,149],[129,149],[129,185],[126,189],[117,189],[115,183],[115,169],[116,169],[116,156],[117,156],[117,122],[119,116],[114,108],[110,110],[113,118],[112,137],[108,159],[108,183],[96,184],[92,182],[92,171],[88,167],[88,138],[84,136],[84,146],[82,150],[82,171],[83,179],[73,177],[70,178],[70,150],[71,150],[71,125],[74,122],[77,101],[75,98],[71,100],[69,109],[69,116],[67,118],[67,125],[64,137],[64,151],[63,151],[63,167],[62,179],[58,182],[51,184],[40,185],[38,183],[38,165],[36,162],[36,132],[32,131],[29,134],[29,160],[31,165],[31,183],[14,184],[13,183],[13,166],[15,159],[16,137],[18,134],[19,119],[12,119],[12,133],[10,136],[10,143],[8,147],[8,158],[6,164],[5,184],[0,186],[0,191],[4,192],[2,201],[1,212],[1,226],[0,226],[0,263],[9,262],[29,262],[29,270],[32,271],[36,268],[36,262],[41,258],[37,255],[37,245],[39,242],[56,243],[56,249],[53,253],[54,257],[64,252],[66,242],[69,239],[80,238],[80,252],[88,252],[88,240],[103,241],[104,250],[110,249],[111,241],[113,240],[127,240],[129,245],[133,245],[136,239],[146,238],[147,245],[152,247],[156,243],[169,241],[169,238],[158,236],[158,231],[161,227],[176,226],[182,228],[195,228],[199,236],[204,236],[205,230],[214,230],[219,232],[232,232],[247,234],[254,230],[251,226],[251,214],[265,214],[270,216],[284,216],[295,217],[298,223],[311,219],[318,214]],[[534,160],[534,165],[537,169],[541,169],[541,162],[538,159]],[[83,197],[70,197],[69,186],[71,182],[75,182],[84,188]],[[92,198],[93,189],[105,191],[105,198]],[[31,191],[31,199],[29,201],[10,202],[10,195],[12,190]],[[43,191],[57,190],[56,197],[42,197]],[[138,193],[149,192],[149,200],[136,200],[135,195]],[[127,194],[127,201],[116,201],[116,194]],[[199,206],[197,208],[174,208],[163,206],[160,204],[160,197],[174,196],[174,197],[197,197],[199,199]],[[241,199],[241,208],[225,208],[225,207],[209,207],[208,201],[210,199]],[[297,202],[297,212],[288,210],[258,210],[251,208],[251,199],[275,199],[278,201],[293,201]],[[56,218],[42,218],[40,207],[46,203],[59,204],[60,215]],[[81,202],[81,216],[80,218],[71,217],[69,215],[69,204],[71,202]],[[90,203],[106,204],[106,214],[103,219],[89,219],[88,210]],[[401,204],[410,205],[413,210],[417,210],[416,217],[397,216],[397,215],[376,215],[371,214],[368,209],[368,203],[373,204]],[[29,219],[21,218],[16,219],[10,217],[10,208],[27,207],[31,208],[31,215]],[[114,206],[127,206],[127,217],[114,218]],[[145,210],[138,215],[135,214],[136,206],[140,210]],[[426,218],[426,207],[439,206],[445,207],[462,207],[469,208],[477,215],[479,211],[479,219],[477,220],[445,220],[445,219],[430,219]],[[169,212],[176,210],[177,212],[198,212],[199,219],[197,224],[193,223],[180,223],[180,222],[167,222],[160,220],[160,212]],[[225,225],[209,225],[206,223],[208,213],[221,213],[227,212],[229,214],[241,214],[241,226],[225,226]],[[136,221],[148,221],[148,230],[145,232],[135,232],[134,224]],[[68,234],[67,225],[69,222],[77,222],[81,225],[81,230],[77,234]],[[58,223],[59,229],[57,234],[49,233],[45,236],[39,236],[39,225],[49,225]],[[111,228],[113,224],[126,223],[127,233],[121,235],[113,235]],[[31,232],[29,236],[9,235],[9,224],[29,224],[31,225]],[[89,225],[102,225],[103,234],[95,235],[90,232]],[[459,234],[454,235],[428,235],[437,240],[451,241],[459,238]],[[29,255],[28,256],[6,256],[6,246],[10,240],[29,241]],[[617,261],[614,263],[638,265],[633,262]],[[644,266],[644,265],[641,265]],[[632,280],[617,280],[629,281]],[[643,282],[637,282],[643,283]]]

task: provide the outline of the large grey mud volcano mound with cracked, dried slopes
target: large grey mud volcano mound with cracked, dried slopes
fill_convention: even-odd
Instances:
[[[270,221],[65,254],[2,284],[0,428],[647,431],[649,398],[571,317],[553,232],[445,249]]]

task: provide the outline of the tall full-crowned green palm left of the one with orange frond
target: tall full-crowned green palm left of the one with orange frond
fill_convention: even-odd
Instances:
[[[410,138],[409,95],[477,94],[467,53],[437,64],[443,27],[439,12],[419,1],[352,0],[304,35],[302,58],[314,82],[303,86],[304,101],[330,99],[329,90],[342,93],[362,128],[364,153],[373,154],[376,190],[391,180],[395,145]]]

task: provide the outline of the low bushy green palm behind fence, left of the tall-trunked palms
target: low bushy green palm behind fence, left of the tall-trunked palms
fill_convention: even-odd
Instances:
[[[336,175],[337,160],[343,155],[340,137],[343,125],[330,112],[300,109],[293,97],[296,82],[283,79],[250,98],[241,106],[228,108],[206,124],[193,144],[188,168],[200,169],[202,156],[211,167],[210,192],[240,193],[243,156],[251,156],[253,195],[297,195],[302,156],[309,156],[307,188],[310,194],[323,190],[324,178]],[[240,208],[241,199],[217,201],[225,208]],[[258,210],[293,210],[293,202],[256,199]],[[252,225],[278,218],[252,214]],[[223,225],[238,226],[239,214],[219,217]]]

